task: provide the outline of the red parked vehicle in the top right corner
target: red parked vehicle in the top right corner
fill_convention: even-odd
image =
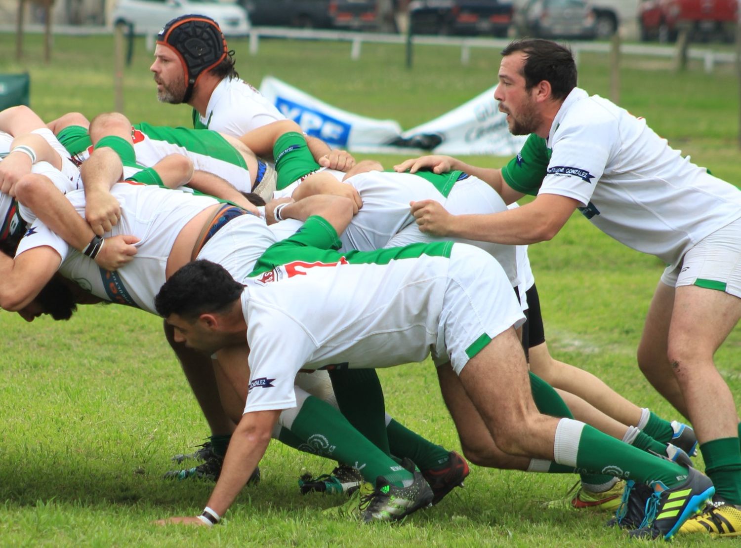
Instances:
[[[644,0],[638,18],[644,41],[674,41],[683,25],[691,31],[693,40],[734,41],[738,1]]]

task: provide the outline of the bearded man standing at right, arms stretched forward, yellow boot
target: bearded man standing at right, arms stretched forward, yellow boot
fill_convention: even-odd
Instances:
[[[494,97],[512,133],[531,133],[502,170],[431,156],[397,169],[462,169],[489,181],[506,202],[494,215],[449,215],[417,202],[420,230],[435,235],[533,244],[554,238],[579,209],[600,230],[668,264],[654,293],[639,365],[692,421],[714,506],[683,532],[741,532],[741,447],[733,395],[713,355],[741,318],[741,192],[682,158],[645,123],[576,87],[571,51],[522,40],[502,51]]]

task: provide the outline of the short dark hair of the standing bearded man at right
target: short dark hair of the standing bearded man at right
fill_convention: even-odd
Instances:
[[[525,53],[522,76],[525,87],[530,90],[543,80],[551,84],[551,95],[562,99],[576,87],[576,63],[568,47],[543,39],[522,39],[511,42],[502,56],[521,51]]]

